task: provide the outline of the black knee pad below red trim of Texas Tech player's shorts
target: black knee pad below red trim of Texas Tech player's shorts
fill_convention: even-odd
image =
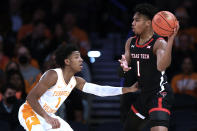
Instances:
[[[163,111],[154,111],[150,113],[150,127],[165,126],[169,127],[170,115]]]

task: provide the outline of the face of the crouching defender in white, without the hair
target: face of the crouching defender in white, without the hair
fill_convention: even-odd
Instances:
[[[81,58],[79,51],[73,51],[73,53],[69,57],[69,60],[70,66],[75,72],[81,71],[81,69],[83,68],[83,59]]]

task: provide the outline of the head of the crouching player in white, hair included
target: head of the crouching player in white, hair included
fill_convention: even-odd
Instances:
[[[55,52],[55,60],[61,68],[69,66],[74,72],[82,69],[83,59],[78,48],[73,44],[61,45]]]

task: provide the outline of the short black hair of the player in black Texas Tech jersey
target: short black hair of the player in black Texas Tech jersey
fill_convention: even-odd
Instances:
[[[138,12],[142,15],[145,15],[149,20],[152,20],[154,15],[158,12],[158,9],[151,4],[143,3],[143,4],[138,4],[135,7],[134,12],[135,13]]]

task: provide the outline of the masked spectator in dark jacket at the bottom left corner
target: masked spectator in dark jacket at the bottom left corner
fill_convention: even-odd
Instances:
[[[3,100],[0,102],[0,122],[7,123],[10,131],[14,131],[20,127],[18,110],[21,101],[16,99],[16,89],[12,84],[3,86],[1,93],[3,94]],[[1,129],[2,128],[4,127],[1,127]]]

